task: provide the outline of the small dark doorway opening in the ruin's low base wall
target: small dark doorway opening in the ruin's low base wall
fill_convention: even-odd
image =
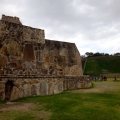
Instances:
[[[13,82],[8,80],[5,84],[5,100],[9,101],[13,90]]]

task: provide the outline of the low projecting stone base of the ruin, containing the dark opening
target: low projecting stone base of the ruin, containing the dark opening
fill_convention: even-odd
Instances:
[[[89,77],[1,77],[0,100],[58,94],[64,90],[91,87]]]

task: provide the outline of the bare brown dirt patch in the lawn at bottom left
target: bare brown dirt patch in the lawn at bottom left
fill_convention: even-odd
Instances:
[[[36,118],[38,118],[39,120],[49,120],[50,116],[52,115],[51,112],[43,110],[42,105],[34,103],[7,102],[6,104],[0,105],[0,111],[2,113],[6,111],[18,111],[18,114],[20,112],[24,114],[30,113],[36,116]]]

